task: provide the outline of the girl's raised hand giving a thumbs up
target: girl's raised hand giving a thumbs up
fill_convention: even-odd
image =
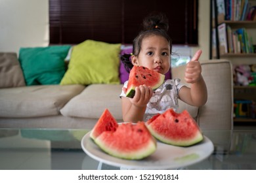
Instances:
[[[198,82],[201,78],[201,64],[198,61],[202,54],[202,50],[198,50],[194,57],[186,64],[186,71],[185,71],[185,80],[188,83],[195,83]]]

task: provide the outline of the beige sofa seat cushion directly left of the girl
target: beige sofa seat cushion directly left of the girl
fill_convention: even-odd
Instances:
[[[122,120],[121,93],[123,84],[92,84],[71,99],[61,110],[70,117],[99,118],[105,108],[116,120]]]

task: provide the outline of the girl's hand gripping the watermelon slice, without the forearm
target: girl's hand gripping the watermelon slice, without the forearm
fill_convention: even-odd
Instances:
[[[130,101],[136,107],[145,107],[147,103],[150,101],[152,95],[152,88],[143,84],[135,88],[135,96],[132,99],[130,99]]]

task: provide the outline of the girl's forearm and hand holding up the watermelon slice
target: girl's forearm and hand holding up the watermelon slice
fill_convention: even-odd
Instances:
[[[126,89],[123,88],[123,90]],[[123,122],[142,121],[146,111],[146,105],[152,97],[152,94],[152,88],[142,85],[135,88],[135,96],[132,99],[121,97]]]

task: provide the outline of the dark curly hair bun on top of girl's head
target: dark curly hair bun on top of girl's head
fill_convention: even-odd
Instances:
[[[167,16],[162,13],[153,13],[144,18],[143,20],[143,28],[144,31],[150,31],[152,29],[163,29],[164,31],[168,31],[169,22]]]

